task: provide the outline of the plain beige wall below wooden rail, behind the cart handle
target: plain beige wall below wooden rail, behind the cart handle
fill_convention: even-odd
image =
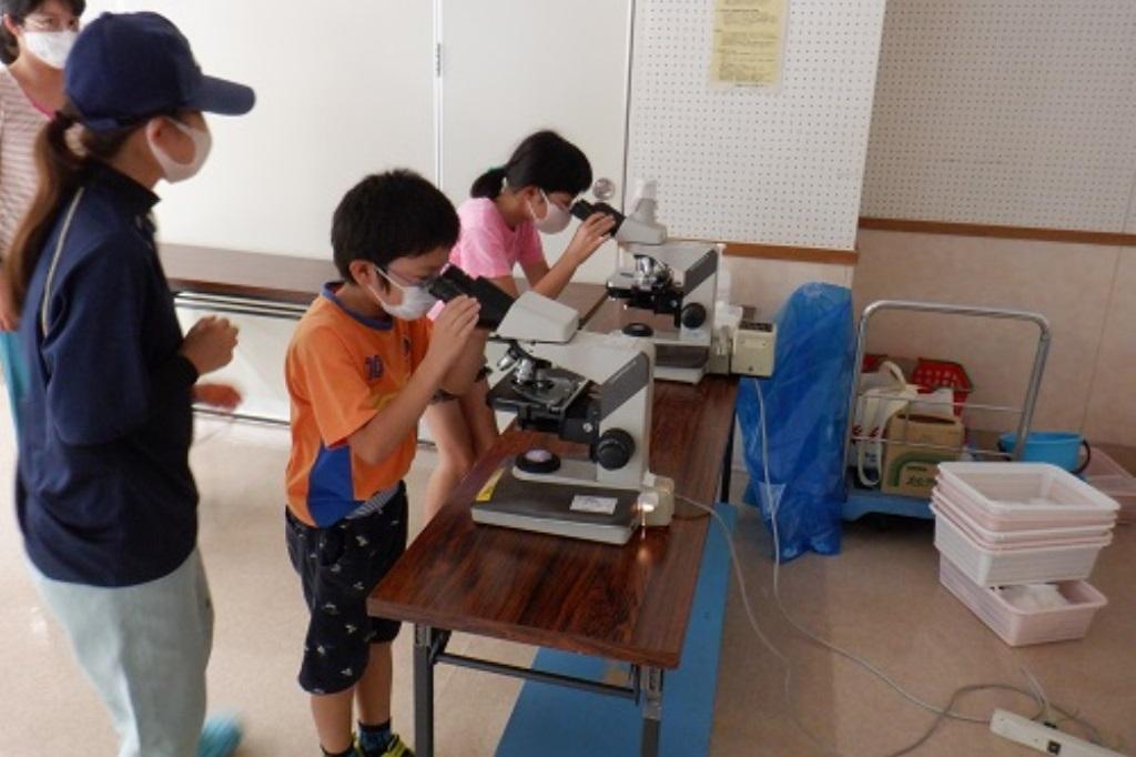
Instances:
[[[1136,444],[1136,248],[861,230],[857,307],[914,299],[1035,310],[1053,328],[1035,429]],[[874,319],[869,349],[955,359],[974,401],[1018,405],[1037,330],[947,316]],[[975,425],[1012,427],[1006,416]]]

